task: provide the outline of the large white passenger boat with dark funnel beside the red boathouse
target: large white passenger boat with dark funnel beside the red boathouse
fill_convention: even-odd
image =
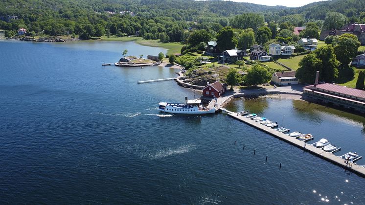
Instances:
[[[165,113],[173,114],[210,114],[215,113],[215,109],[205,108],[202,105],[202,100],[187,100],[185,97],[185,103],[169,103],[160,102],[159,110]]]

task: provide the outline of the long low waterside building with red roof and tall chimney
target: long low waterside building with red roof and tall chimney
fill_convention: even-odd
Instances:
[[[365,91],[331,83],[318,84],[318,75],[314,85],[303,88],[305,96],[320,103],[365,113]]]

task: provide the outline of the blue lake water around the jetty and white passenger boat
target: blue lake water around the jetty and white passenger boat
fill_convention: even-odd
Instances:
[[[159,100],[194,92],[174,81],[137,85],[174,77],[172,68],[101,67],[124,49],[166,52],[0,42],[0,204],[365,204],[364,178],[226,114],[160,113]],[[364,117],[273,98],[227,108],[327,138],[342,147],[336,155],[365,156]]]

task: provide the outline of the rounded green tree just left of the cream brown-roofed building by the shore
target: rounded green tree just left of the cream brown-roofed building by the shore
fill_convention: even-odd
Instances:
[[[271,79],[271,74],[267,68],[255,64],[247,71],[245,76],[245,83],[248,85],[258,85],[267,83]]]

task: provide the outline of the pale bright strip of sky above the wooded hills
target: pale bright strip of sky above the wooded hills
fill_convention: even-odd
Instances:
[[[287,7],[297,7],[297,6],[304,6],[308,3],[323,1],[323,0],[231,0],[236,2],[249,2],[249,3],[256,3],[268,6],[287,6]]]

